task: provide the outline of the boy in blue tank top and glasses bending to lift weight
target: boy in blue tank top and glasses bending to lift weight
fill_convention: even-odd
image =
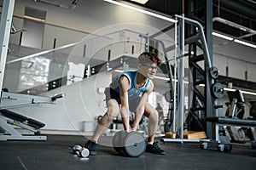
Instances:
[[[120,111],[125,131],[137,131],[137,126],[143,115],[148,117],[148,144],[147,152],[164,155],[157,142],[154,142],[154,134],[158,126],[158,112],[152,105],[148,104],[148,95],[154,89],[152,79],[157,71],[157,66],[161,60],[151,52],[144,52],[138,57],[137,71],[123,71],[113,78],[110,88],[106,88],[106,102],[108,111],[102,116],[101,121],[96,126],[92,139],[88,140],[85,148],[90,150],[90,155],[96,155],[97,140],[102,133],[118,116]],[[119,107],[120,105],[120,107]],[[130,129],[130,111],[135,112],[133,127]]]

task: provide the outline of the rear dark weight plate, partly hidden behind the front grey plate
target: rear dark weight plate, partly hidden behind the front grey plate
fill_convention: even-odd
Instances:
[[[119,131],[114,134],[112,139],[113,149],[119,152],[119,154],[125,156],[125,149],[124,149],[124,139],[125,139],[125,131]]]

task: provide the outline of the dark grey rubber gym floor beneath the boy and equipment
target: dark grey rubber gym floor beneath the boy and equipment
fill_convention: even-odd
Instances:
[[[112,147],[97,146],[97,155],[79,158],[73,155],[73,145],[84,145],[82,136],[48,135],[47,141],[1,141],[0,169],[255,169],[256,150],[249,144],[233,144],[231,152],[201,150],[198,143],[166,143],[165,156],[144,153],[125,157]],[[111,141],[102,136],[101,140]]]

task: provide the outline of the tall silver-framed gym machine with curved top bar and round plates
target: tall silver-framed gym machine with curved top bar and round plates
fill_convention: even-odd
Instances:
[[[224,96],[224,88],[223,85],[219,82],[215,82],[215,79],[218,77],[218,69],[212,66],[212,61],[210,59],[209,51],[207,48],[207,41],[204,35],[203,27],[196,20],[190,20],[185,18],[183,15],[175,15],[175,65],[174,65],[174,86],[172,88],[172,102],[173,102],[173,117],[172,117],[172,132],[177,131],[177,136],[179,139],[161,139],[162,142],[200,142],[201,139],[183,139],[183,122],[184,122],[184,45],[187,42],[195,42],[197,40],[201,40],[201,49],[203,51],[203,57],[205,59],[207,65],[207,78],[205,82],[205,88],[207,88],[207,92],[212,94],[212,98],[218,99]],[[177,23],[178,28],[177,28]],[[188,40],[184,40],[184,23],[187,23],[191,26],[196,26],[198,28],[198,35],[195,37],[191,37]],[[177,37],[178,35],[178,37]],[[177,73],[176,73],[177,70]],[[178,80],[176,79],[176,75]],[[176,89],[177,88],[177,89]],[[214,109],[218,109],[218,105],[214,99],[208,100],[207,105],[213,105]],[[213,111],[214,112],[214,111]],[[213,113],[212,113],[213,114]],[[214,115],[214,114],[213,114]],[[176,124],[177,119],[177,124]],[[207,132],[208,133],[208,132]],[[211,136],[211,132],[208,134]],[[204,141],[209,141],[210,139],[203,139]]]

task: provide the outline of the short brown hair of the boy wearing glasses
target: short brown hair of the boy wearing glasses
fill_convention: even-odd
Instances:
[[[138,63],[145,64],[145,63],[156,63],[156,65],[161,64],[161,59],[158,58],[157,54],[153,52],[143,52],[138,56]]]

